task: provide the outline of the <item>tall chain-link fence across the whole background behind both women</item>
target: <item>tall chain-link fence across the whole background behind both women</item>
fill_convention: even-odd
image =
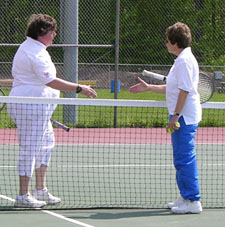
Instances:
[[[28,18],[33,13],[46,13],[58,23],[54,45],[48,48],[58,77],[86,81],[99,89],[99,98],[113,98],[110,84],[115,78],[116,3],[120,3],[118,79],[121,90],[136,83],[138,72],[143,69],[167,74],[174,57],[165,46],[165,30],[177,21],[192,29],[192,49],[201,70],[212,77],[219,75],[217,83],[223,81],[223,0],[0,0],[1,81],[12,79],[13,56],[26,38]],[[6,86],[8,82],[1,84]],[[132,98],[118,96],[129,97]]]

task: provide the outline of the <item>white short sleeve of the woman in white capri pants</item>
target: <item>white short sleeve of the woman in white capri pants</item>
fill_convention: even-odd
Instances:
[[[55,65],[46,50],[34,56],[32,63],[35,75],[41,83],[47,84],[56,78]]]

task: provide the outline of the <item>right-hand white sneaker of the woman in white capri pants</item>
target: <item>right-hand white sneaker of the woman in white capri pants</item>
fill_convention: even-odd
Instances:
[[[53,196],[48,192],[47,188],[44,188],[43,190],[34,190],[32,193],[33,197],[37,200],[43,200],[48,205],[55,205],[57,203],[61,202],[61,199],[58,197]]]

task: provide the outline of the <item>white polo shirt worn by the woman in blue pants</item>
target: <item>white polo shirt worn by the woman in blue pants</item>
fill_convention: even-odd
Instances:
[[[166,100],[170,115],[175,112],[180,89],[187,91],[187,99],[181,111],[187,125],[201,121],[202,109],[197,91],[199,66],[191,48],[185,48],[176,58],[166,80]]]

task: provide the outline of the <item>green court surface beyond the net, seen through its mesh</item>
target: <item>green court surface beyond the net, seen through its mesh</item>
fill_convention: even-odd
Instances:
[[[10,210],[19,187],[18,147],[2,146],[0,209]],[[223,147],[196,145],[204,208],[224,207]],[[31,189],[34,184],[35,177]],[[57,145],[48,169],[48,188],[62,202],[46,209],[166,208],[179,196],[170,144]]]

